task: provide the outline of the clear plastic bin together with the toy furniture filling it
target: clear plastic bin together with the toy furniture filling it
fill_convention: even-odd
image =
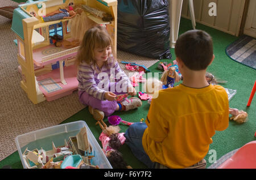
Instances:
[[[15,143],[24,169],[112,168],[84,121],[28,132]]]

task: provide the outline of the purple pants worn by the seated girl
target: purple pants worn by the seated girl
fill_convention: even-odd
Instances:
[[[104,112],[105,116],[109,116],[115,112],[117,101],[99,100],[85,91],[79,91],[79,100],[82,104],[91,106],[93,109],[98,109]]]

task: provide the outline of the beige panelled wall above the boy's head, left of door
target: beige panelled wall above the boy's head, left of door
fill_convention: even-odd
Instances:
[[[210,2],[217,5],[217,16],[209,16]],[[241,28],[245,0],[193,0],[197,23],[208,25],[234,36],[238,36]],[[183,1],[181,17],[190,19],[188,0]]]

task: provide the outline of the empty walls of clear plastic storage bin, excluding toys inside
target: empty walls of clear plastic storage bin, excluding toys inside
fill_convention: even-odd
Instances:
[[[76,136],[82,127],[86,127],[89,143],[92,145],[93,151],[95,152],[95,156],[92,158],[92,164],[98,165],[99,168],[102,169],[112,168],[108,159],[102,152],[100,145],[94,138],[92,131],[90,131],[89,127],[84,121],[65,123],[63,125],[47,127],[41,130],[16,136],[15,143],[23,168],[27,168],[26,162],[24,162],[22,156],[22,153],[26,150],[26,148],[29,150],[43,148],[48,151],[52,149],[52,142],[56,145],[56,147],[59,145],[64,145],[64,139],[68,140],[69,136]]]

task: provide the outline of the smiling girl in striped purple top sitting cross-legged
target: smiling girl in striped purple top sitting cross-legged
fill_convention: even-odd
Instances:
[[[116,110],[130,110],[142,105],[137,97],[117,102],[117,95],[128,92],[135,96],[137,92],[129,78],[119,67],[112,54],[112,38],[101,25],[85,32],[77,54],[77,80],[79,81],[79,100],[89,106],[94,119],[100,121]],[[117,82],[110,82],[110,75]]]

